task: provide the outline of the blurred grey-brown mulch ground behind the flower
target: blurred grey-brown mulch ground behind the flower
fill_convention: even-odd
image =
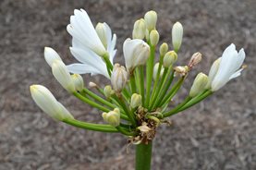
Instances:
[[[101,113],[63,90],[43,59],[51,46],[66,63],[75,59],[66,26],[74,8],[84,8],[93,24],[107,22],[117,35],[116,62],[133,23],[148,10],[158,13],[160,42],[171,46],[171,28],[184,26],[178,64],[201,52],[203,60],[176,101],[185,98],[192,79],[208,73],[231,42],[245,48],[248,69],[204,102],[171,118],[153,143],[152,170],[256,169],[256,1],[255,0],[1,0],[0,2],[0,169],[133,169],[134,146],[118,134],[105,134],[55,122],[32,102],[29,86],[43,84],[80,120],[101,122]],[[103,77],[84,76],[86,84]],[[104,79],[105,83],[109,83]],[[128,152],[127,152],[128,149]]]

